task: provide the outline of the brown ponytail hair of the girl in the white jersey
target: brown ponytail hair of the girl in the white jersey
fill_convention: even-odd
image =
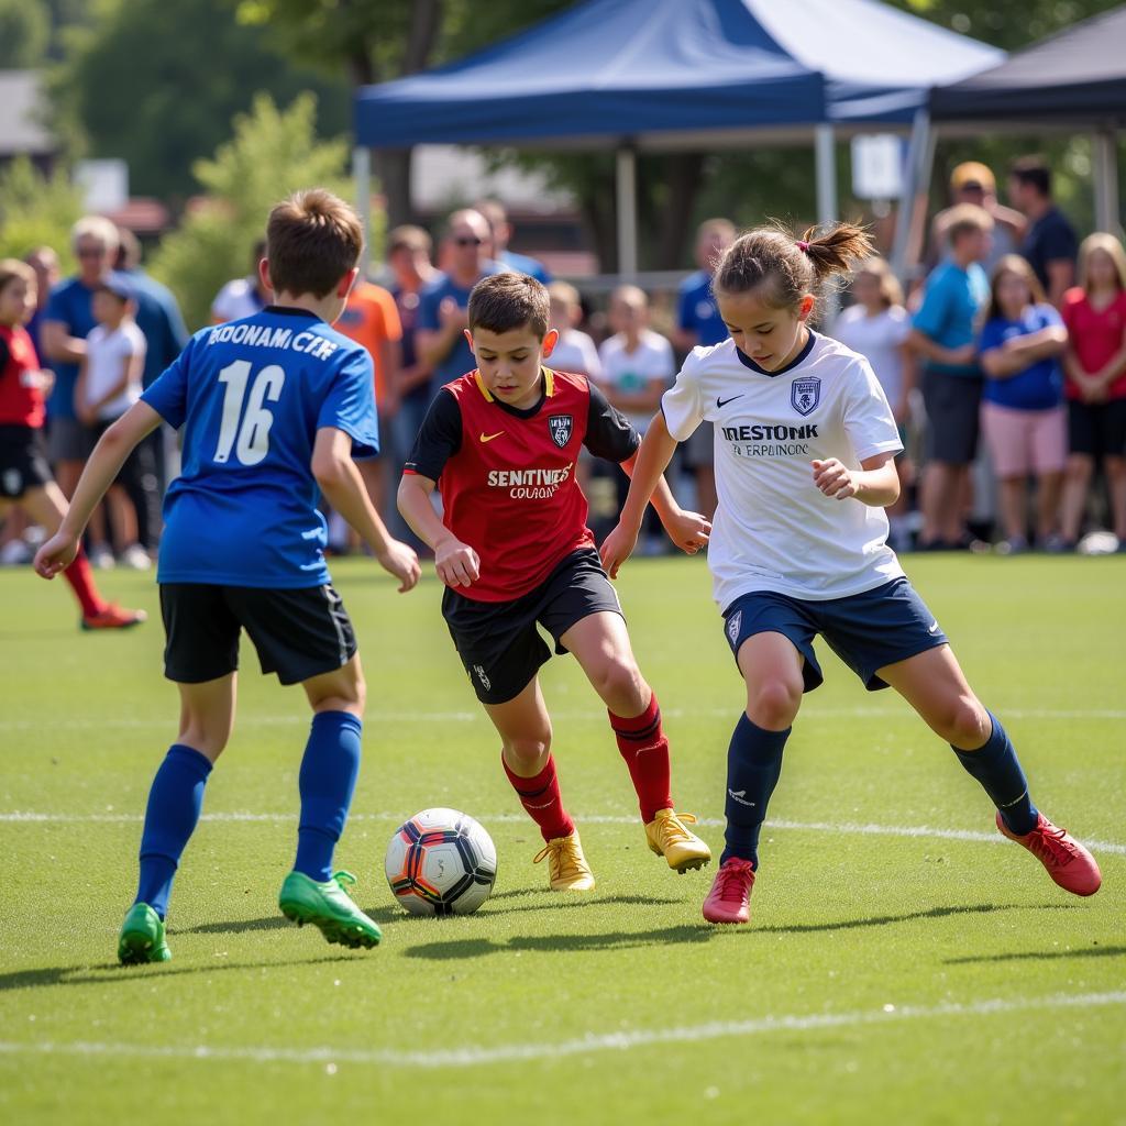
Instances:
[[[769,283],[769,303],[792,309],[807,293],[820,296],[834,275],[870,253],[867,233],[851,223],[834,223],[822,234],[811,226],[801,239],[779,223],[740,235],[720,259],[712,288],[735,294]]]

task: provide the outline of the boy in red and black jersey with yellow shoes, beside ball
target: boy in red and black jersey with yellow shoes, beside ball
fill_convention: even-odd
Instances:
[[[677,872],[699,868],[708,847],[673,812],[669,743],[642,678],[622,608],[587,527],[575,481],[579,449],[629,470],[640,439],[586,376],[543,366],[547,291],[522,274],[483,278],[470,296],[466,339],[477,369],[447,383],[430,405],[399,486],[399,510],[435,552],[446,583],[443,616],[477,699],[502,740],[501,760],[546,842],[556,891],[595,886],[560,796],[552,725],[539,690],[551,650],[573,653],[605,701],[637,792],[650,848]],[[441,492],[439,520],[430,503]],[[653,497],[669,536],[689,554],[711,525],[677,507],[663,479]]]

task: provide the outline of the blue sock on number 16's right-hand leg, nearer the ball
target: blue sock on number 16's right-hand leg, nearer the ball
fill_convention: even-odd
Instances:
[[[350,712],[319,712],[301,760],[301,821],[294,870],[324,883],[359,774],[364,724]]]

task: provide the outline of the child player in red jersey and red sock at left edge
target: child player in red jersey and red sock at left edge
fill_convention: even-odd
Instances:
[[[50,372],[25,323],[35,313],[35,270],[14,258],[0,261],[0,519],[12,506],[54,535],[66,515],[66,498],[51,475],[43,444]],[[107,602],[93,584],[84,552],[63,571],[82,607],[83,629],[123,629],[145,619],[144,610]]]

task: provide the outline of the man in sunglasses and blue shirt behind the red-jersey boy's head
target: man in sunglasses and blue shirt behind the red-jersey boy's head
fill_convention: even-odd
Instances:
[[[465,339],[465,310],[470,292],[490,274],[502,268],[491,261],[492,234],[481,212],[466,209],[449,216],[446,234],[448,269],[439,274],[419,295],[415,348],[419,359],[434,373],[432,399],[444,384],[472,372],[477,365]]]

